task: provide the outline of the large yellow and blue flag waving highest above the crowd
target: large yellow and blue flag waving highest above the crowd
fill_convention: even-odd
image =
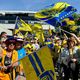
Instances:
[[[60,7],[62,7],[63,5],[64,4],[62,4]],[[54,7],[52,7],[51,10],[44,9],[44,10],[41,10],[40,12],[35,13],[35,17],[50,25],[57,26],[58,23],[61,24],[62,20],[64,20],[65,18],[71,16],[74,12],[76,12],[76,9],[70,5],[68,6],[65,5],[63,8],[64,9],[60,10],[60,12],[56,12],[56,10],[54,10]]]

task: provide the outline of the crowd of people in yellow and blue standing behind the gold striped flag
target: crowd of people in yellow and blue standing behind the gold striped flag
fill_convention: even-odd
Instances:
[[[20,59],[43,46],[48,46],[52,51],[52,59],[55,67],[64,70],[64,80],[78,80],[80,65],[80,37],[71,33],[70,36],[58,35],[45,37],[44,43],[37,38],[30,40],[16,36],[8,37],[6,32],[0,35],[0,80],[26,80]],[[71,74],[70,74],[71,73]]]

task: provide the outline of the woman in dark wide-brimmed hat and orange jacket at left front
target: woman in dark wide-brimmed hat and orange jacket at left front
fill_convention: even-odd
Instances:
[[[7,49],[5,55],[2,56],[1,66],[3,68],[0,70],[0,80],[14,80],[14,67],[18,65],[16,62],[18,60],[18,54],[15,51],[16,40],[11,37],[5,43]]]

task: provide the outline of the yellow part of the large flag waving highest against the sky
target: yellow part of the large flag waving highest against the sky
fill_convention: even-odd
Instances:
[[[63,9],[67,8],[68,6],[70,6],[70,5],[65,3],[65,2],[58,2],[50,8],[43,9],[43,10],[35,13],[35,17],[38,18],[38,19],[40,19],[40,18],[50,18],[50,16],[54,17],[56,15],[56,12],[60,12]]]

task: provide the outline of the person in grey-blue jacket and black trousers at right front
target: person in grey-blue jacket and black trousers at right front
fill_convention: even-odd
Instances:
[[[72,38],[67,41],[67,48],[61,51],[61,63],[64,69],[64,80],[69,80],[70,73],[72,73],[72,79],[78,80],[79,73],[79,49],[75,45],[75,41]]]

